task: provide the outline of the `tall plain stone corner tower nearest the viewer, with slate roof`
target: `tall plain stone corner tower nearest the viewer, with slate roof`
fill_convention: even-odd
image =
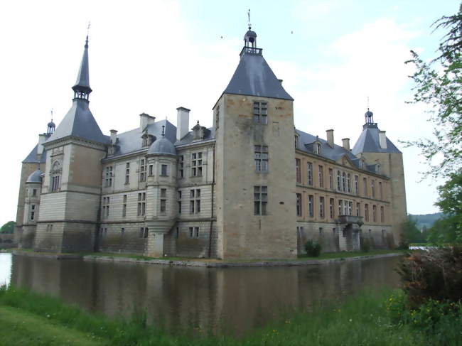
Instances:
[[[240,63],[213,107],[217,256],[296,256],[294,109],[257,48],[244,36]]]

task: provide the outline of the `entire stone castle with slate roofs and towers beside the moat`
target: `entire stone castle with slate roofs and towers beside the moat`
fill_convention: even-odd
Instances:
[[[294,127],[294,99],[245,34],[213,127],[140,114],[105,135],[89,108],[88,38],[72,107],[22,163],[15,238],[38,252],[286,259],[394,247],[406,210],[402,153],[367,109],[362,134],[334,143]],[[191,131],[190,131],[191,130]]]

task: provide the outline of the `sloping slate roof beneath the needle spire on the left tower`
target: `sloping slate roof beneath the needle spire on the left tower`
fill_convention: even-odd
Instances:
[[[93,117],[88,102],[85,99],[74,99],[72,107],[68,114],[65,115],[55,132],[45,143],[63,139],[67,136],[75,136],[81,139],[87,139],[98,143],[107,144],[109,137],[104,136]]]

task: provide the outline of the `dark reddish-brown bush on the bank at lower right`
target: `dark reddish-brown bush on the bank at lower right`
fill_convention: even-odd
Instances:
[[[411,308],[427,301],[462,301],[462,247],[413,252],[399,264]]]

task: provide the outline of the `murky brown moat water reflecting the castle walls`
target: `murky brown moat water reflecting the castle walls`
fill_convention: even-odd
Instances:
[[[11,283],[111,316],[146,309],[151,323],[171,329],[243,332],[281,310],[306,310],[321,299],[339,299],[363,288],[396,287],[398,260],[207,269],[13,256]],[[0,257],[3,261],[8,259]]]

